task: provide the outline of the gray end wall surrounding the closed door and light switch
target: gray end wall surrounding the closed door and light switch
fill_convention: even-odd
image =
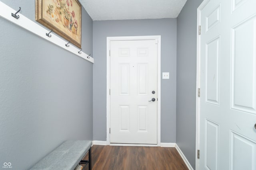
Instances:
[[[93,139],[106,141],[106,37],[161,35],[161,142],[176,142],[176,18],[93,21]]]

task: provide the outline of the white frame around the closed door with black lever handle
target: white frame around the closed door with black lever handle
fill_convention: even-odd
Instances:
[[[106,85],[106,96],[107,96],[107,145],[110,144],[110,41],[121,41],[121,40],[155,40],[157,43],[157,146],[161,143],[161,35],[149,35],[149,36],[126,36],[126,37],[107,37],[107,85]],[[117,144],[119,145],[119,144]],[[122,144],[123,145],[123,144]],[[156,146],[156,145],[144,145],[144,144],[125,144],[126,146]]]

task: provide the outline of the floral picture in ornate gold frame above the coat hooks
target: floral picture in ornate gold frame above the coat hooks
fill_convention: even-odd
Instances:
[[[81,4],[78,0],[36,0],[36,21],[81,48]]]

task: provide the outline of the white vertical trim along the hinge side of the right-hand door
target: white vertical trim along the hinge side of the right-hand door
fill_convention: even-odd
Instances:
[[[199,170],[200,159],[197,158],[197,150],[200,150],[200,98],[198,97],[198,88],[200,88],[200,44],[201,35],[199,35],[199,26],[201,25],[201,10],[210,0],[204,0],[197,8],[197,32],[196,32],[196,170]]]

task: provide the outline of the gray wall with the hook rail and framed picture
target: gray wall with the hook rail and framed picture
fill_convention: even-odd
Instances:
[[[29,1],[2,0],[35,21]],[[65,140],[92,140],[93,64],[3,18],[0,25],[0,167],[25,170]],[[82,48],[92,54],[84,9]]]

